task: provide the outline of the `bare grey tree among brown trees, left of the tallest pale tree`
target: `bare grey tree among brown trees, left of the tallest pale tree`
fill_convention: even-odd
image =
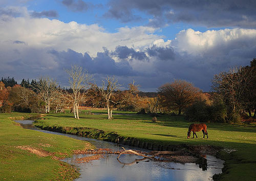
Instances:
[[[37,96],[45,102],[45,112],[50,112],[53,99],[58,94],[57,82],[49,77],[39,77],[36,86],[32,87],[37,92]]]

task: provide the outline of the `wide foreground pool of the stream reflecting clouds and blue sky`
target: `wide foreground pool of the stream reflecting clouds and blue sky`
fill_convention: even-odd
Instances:
[[[114,154],[106,155],[101,160],[77,164],[75,159],[83,156],[88,155],[75,155],[73,158],[65,159],[69,164],[80,168],[81,175],[77,180],[211,180],[211,176],[215,173],[221,173],[223,167],[222,164],[209,161],[207,171],[202,171],[196,164],[145,162],[148,160],[127,166],[120,164],[116,160],[117,155]],[[141,159],[141,157],[125,154],[119,158],[123,163],[131,163],[135,159]],[[213,156],[207,156],[207,159],[218,161]]]

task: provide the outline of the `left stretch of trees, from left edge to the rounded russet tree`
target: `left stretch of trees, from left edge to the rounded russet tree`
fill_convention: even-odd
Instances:
[[[79,106],[106,108],[108,119],[113,119],[113,109],[139,111],[154,108],[154,98],[139,96],[138,85],[129,84],[129,89],[120,90],[115,77],[106,77],[101,86],[92,82],[92,75],[80,66],[66,70],[70,88],[61,88],[50,77],[38,80],[23,79],[20,84],[14,78],[2,78],[0,82],[0,112],[62,112],[69,108],[74,118],[79,119]],[[7,81],[14,80],[13,84]],[[7,86],[8,85],[8,86]]]

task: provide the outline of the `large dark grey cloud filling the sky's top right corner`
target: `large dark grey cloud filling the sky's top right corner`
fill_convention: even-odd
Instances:
[[[175,22],[205,27],[256,27],[256,1],[251,0],[111,0],[109,7],[105,15],[123,22],[141,17],[134,10],[152,15],[148,25],[153,27]]]

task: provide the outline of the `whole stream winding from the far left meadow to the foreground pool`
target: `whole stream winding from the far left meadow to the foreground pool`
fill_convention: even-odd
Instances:
[[[115,150],[125,149],[141,150],[150,152],[142,148],[120,145],[111,142],[105,142],[86,137],[79,137],[73,134],[65,134],[47,130],[41,130],[33,126],[31,120],[15,121],[25,129],[33,129],[45,133],[65,135],[77,140],[84,140],[93,144],[96,148],[110,148]],[[80,169],[80,177],[75,180],[212,180],[212,175],[222,173],[224,161],[217,159],[215,156],[206,155],[207,170],[202,170],[199,165],[195,163],[174,163],[174,162],[156,162],[150,159],[143,161],[135,161],[135,159],[142,159],[142,156],[133,154],[122,154],[118,162],[117,154],[104,154],[100,160],[90,161],[89,163],[77,163],[75,160],[81,157],[91,156],[92,154],[78,154],[73,157],[68,157],[63,162],[74,165]],[[125,163],[125,164],[124,164]]]

